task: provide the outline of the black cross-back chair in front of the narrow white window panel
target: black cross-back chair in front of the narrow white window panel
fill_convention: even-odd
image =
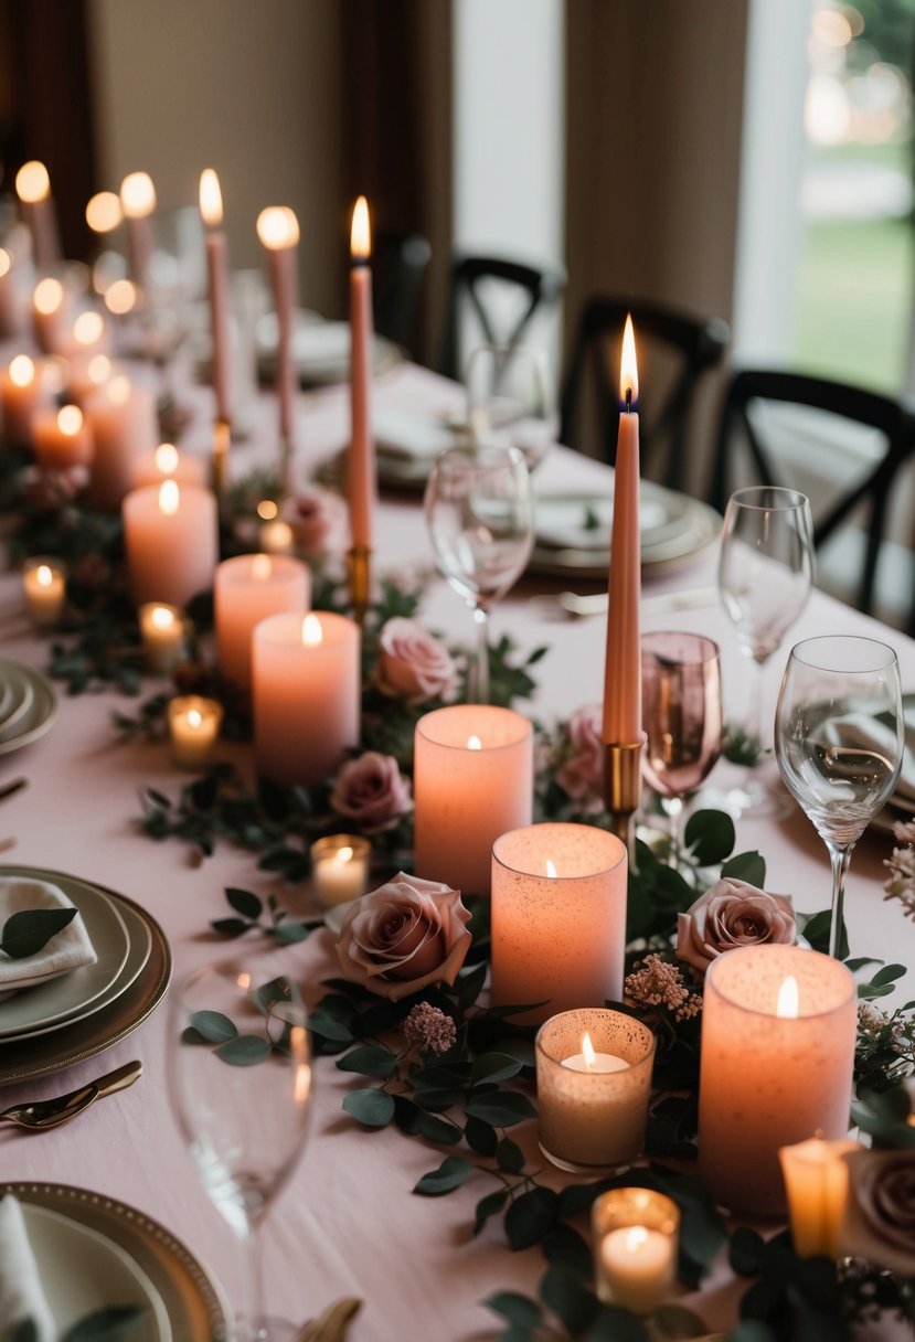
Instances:
[[[460,380],[460,323],[464,313],[476,318],[480,340],[514,349],[534,314],[555,309],[566,286],[563,266],[534,266],[507,256],[456,256],[448,283],[445,331],[439,370]],[[506,291],[514,299],[510,317],[500,313]]]

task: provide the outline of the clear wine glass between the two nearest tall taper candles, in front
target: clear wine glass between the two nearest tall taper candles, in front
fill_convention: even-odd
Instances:
[[[523,573],[534,545],[530,471],[517,447],[449,447],[425,486],[425,521],[439,570],[478,629],[467,698],[490,698],[490,608]]]

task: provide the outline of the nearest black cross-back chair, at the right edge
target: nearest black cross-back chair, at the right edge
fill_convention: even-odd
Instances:
[[[816,439],[810,443],[825,444],[825,475],[837,482],[837,487],[814,491],[817,475],[804,466],[805,432],[814,432],[808,417],[806,431],[801,421],[794,425],[782,415],[773,424],[774,407],[804,407],[820,412]],[[765,424],[766,408],[769,425]],[[829,419],[832,416],[832,419]],[[841,480],[843,437],[836,437],[839,421],[872,429],[879,436],[873,448],[857,466],[860,450],[849,444],[848,455],[855,456],[855,466],[844,472]],[[786,446],[786,433],[797,437],[797,446]],[[773,451],[773,440],[781,440],[781,452]],[[816,450],[816,448],[814,448]],[[821,446],[821,451],[824,446]],[[894,490],[902,483],[903,467],[915,458],[915,399],[903,396],[881,396],[860,386],[812,377],[804,373],[779,372],[774,369],[741,369],[731,374],[718,428],[718,440],[712,460],[707,498],[712,507],[723,513],[733,490],[746,484],[789,484],[801,488],[810,498],[813,513],[813,538],[817,553],[840,531],[861,522],[864,533],[864,554],[857,562],[855,546],[843,546],[841,569],[848,569],[848,560],[855,560],[848,574],[853,589],[855,604],[860,611],[872,615],[876,604],[876,576],[881,548],[888,541],[890,507]],[[801,472],[801,474],[798,474]],[[851,476],[851,479],[848,479]],[[816,495],[816,497],[814,497]],[[849,539],[853,531],[848,531]],[[856,537],[860,542],[860,534]],[[911,542],[912,537],[907,537]],[[910,568],[911,554],[898,548]],[[906,604],[907,632],[915,632],[915,588],[910,568],[903,581],[907,589],[902,593]],[[843,576],[845,576],[843,573]]]

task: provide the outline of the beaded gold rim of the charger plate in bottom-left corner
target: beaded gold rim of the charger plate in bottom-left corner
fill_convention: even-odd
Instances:
[[[231,1311],[215,1276],[150,1216],[68,1184],[0,1184],[0,1196],[4,1193],[68,1216],[129,1253],[162,1298],[172,1342],[228,1342]]]

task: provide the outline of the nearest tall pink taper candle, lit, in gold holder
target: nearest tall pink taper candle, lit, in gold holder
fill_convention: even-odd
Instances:
[[[613,476],[609,608],[604,678],[606,809],[610,829],[635,858],[635,812],[641,797],[641,539],[639,533],[639,369],[632,317],[620,360],[620,432]]]

